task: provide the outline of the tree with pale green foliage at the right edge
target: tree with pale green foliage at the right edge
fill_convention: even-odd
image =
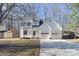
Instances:
[[[72,4],[68,4],[67,8],[70,10],[70,13],[64,15],[67,19],[69,19],[67,27],[74,30],[79,19],[78,10]]]

